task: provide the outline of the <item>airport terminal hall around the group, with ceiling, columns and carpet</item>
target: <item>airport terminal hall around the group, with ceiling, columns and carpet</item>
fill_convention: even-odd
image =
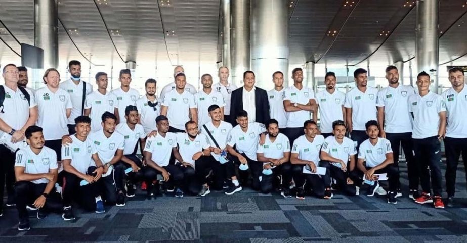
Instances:
[[[368,86],[381,89],[388,86],[386,67],[394,65],[402,84],[416,90],[417,74],[426,71],[430,90],[441,94],[451,87],[450,68],[467,71],[465,22],[465,0],[0,0],[0,68],[35,66],[25,60],[35,46],[43,65],[28,67],[32,89],[44,87],[50,67],[69,79],[68,62],[78,60],[81,79],[95,90],[97,72],[108,74],[110,91],[128,68],[132,88],[145,94],[153,78],[159,94],[174,82],[176,66],[202,89],[203,74],[217,83],[226,66],[238,87],[246,70],[265,90],[282,71],[289,87],[292,70],[302,68],[305,87],[324,90],[326,72],[334,72],[336,89],[346,93],[356,85],[356,69],[367,70]],[[235,195],[211,190],[205,197],[167,192],[147,199],[138,185],[126,206],[106,206],[103,214],[76,207],[76,219],[64,222],[58,214],[38,220],[30,211],[29,231],[18,231],[16,208],[4,206],[0,242],[467,242],[464,164],[457,168],[456,206],[445,209],[408,198],[403,155],[399,167],[397,204],[379,195],[296,199],[246,187]]]

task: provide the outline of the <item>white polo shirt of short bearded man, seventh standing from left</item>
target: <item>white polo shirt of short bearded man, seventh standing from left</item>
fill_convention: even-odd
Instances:
[[[138,108],[138,113],[140,116],[140,123],[143,125],[144,132],[149,133],[153,130],[157,130],[156,128],[156,118],[160,115],[160,100],[156,98],[154,103],[157,102],[155,107],[150,107],[148,105],[149,99],[146,95],[141,97],[136,101],[136,107]]]

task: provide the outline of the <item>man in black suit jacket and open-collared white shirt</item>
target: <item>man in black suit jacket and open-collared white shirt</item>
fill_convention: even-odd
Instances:
[[[254,86],[254,73],[243,73],[243,87],[232,92],[230,102],[230,123],[237,125],[235,117],[242,110],[248,112],[249,122],[266,124],[269,117],[269,101],[266,90]]]

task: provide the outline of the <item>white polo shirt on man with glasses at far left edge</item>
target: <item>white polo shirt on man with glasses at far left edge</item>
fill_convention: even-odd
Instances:
[[[34,94],[26,89],[30,96],[30,103],[28,104],[26,96],[24,96],[19,88],[15,92],[6,85],[2,86],[5,88],[5,100],[1,108],[3,112],[0,112],[0,119],[13,129],[19,130],[23,128],[29,118],[29,108],[36,106]]]

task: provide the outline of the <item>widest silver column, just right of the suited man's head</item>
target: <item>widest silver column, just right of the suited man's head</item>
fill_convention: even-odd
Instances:
[[[281,71],[287,87],[288,6],[283,0],[251,1],[250,13],[251,69],[257,86],[272,89],[272,74]]]

